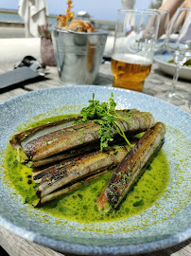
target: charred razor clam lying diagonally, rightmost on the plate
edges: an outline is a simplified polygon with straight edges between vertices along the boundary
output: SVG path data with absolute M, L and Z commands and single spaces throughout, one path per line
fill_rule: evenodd
M 142 168 L 163 144 L 165 125 L 157 122 L 135 144 L 115 169 L 105 190 L 97 199 L 98 210 L 108 212 L 116 208 L 141 173 Z

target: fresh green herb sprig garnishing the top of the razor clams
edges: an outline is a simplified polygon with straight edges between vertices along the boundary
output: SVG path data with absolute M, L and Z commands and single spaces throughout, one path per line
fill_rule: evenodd
M 95 94 L 93 93 L 93 100 L 89 102 L 89 106 L 84 107 L 81 110 L 80 115 L 82 116 L 82 119 L 80 119 L 78 123 L 94 120 L 100 125 L 98 131 L 98 136 L 100 138 L 100 149 L 103 150 L 104 148 L 108 147 L 109 141 L 113 141 L 113 131 L 116 131 L 126 140 L 128 145 L 132 147 L 124 131 L 118 124 L 117 119 L 124 120 L 128 123 L 130 123 L 130 121 L 123 119 L 123 117 L 117 114 L 115 110 L 116 102 L 113 100 L 113 93 L 109 101 L 103 101 L 101 103 L 99 101 L 95 101 Z

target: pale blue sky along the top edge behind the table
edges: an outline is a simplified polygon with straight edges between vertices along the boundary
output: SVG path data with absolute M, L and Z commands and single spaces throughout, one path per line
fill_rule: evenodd
M 41 0 L 40 0 L 41 1 Z M 130 0 L 129 0 L 130 1 Z M 64 14 L 67 0 L 46 0 L 49 14 Z M 135 8 L 147 9 L 151 0 L 136 0 Z M 18 9 L 19 0 L 0 0 L 0 9 Z M 74 12 L 86 10 L 92 19 L 116 21 L 121 0 L 73 0 Z

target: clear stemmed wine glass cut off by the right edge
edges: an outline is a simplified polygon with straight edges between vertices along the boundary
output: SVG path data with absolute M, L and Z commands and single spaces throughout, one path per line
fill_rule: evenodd
M 173 82 L 170 89 L 165 95 L 165 100 L 180 105 L 186 99 L 183 91 L 176 90 L 176 83 L 179 79 L 182 65 L 191 59 L 191 9 L 179 8 L 177 9 L 172 23 L 167 32 L 165 42 L 166 49 L 173 57 L 176 64 Z

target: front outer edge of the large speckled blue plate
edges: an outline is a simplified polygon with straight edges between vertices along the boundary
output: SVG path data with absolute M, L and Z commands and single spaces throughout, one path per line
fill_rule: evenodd
M 4 227 L 4 223 L 8 223 L 9 229 Z M 49 247 L 51 249 L 63 252 L 63 253 L 76 253 L 78 255 L 134 255 L 137 253 L 147 253 L 158 249 L 164 249 L 167 247 L 173 247 L 180 244 L 191 237 L 191 227 L 183 230 L 182 232 L 175 233 L 173 235 L 168 235 L 165 239 L 159 239 L 151 242 L 140 244 L 130 244 L 130 245 L 114 245 L 114 246 L 91 246 L 83 245 L 78 243 L 71 243 L 65 240 L 50 238 L 40 233 L 34 233 L 24 228 L 19 228 L 18 226 L 9 223 L 6 219 L 0 216 L 0 226 L 12 232 L 21 238 L 43 247 Z M 25 232 L 24 232 L 25 231 Z M 180 236 L 182 239 L 180 239 Z M 54 241 L 55 246 L 51 245 Z M 75 246 L 75 247 L 74 247 Z M 149 247 L 149 249 L 148 249 Z M 117 251 L 116 251 L 117 249 Z

